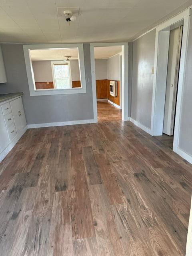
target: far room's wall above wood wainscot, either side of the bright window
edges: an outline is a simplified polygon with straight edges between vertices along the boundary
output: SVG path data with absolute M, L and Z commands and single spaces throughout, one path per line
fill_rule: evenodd
M 52 82 L 51 60 L 32 61 L 35 82 Z M 80 80 L 79 61 L 70 60 L 72 81 Z

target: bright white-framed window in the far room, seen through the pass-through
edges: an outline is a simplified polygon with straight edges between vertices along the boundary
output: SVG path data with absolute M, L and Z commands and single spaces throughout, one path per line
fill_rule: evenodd
M 52 76 L 55 89 L 72 88 L 70 61 L 52 61 Z

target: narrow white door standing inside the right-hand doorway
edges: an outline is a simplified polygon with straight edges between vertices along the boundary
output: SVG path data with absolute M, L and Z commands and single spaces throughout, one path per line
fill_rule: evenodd
M 173 135 L 182 42 L 182 26 L 170 31 L 163 133 Z

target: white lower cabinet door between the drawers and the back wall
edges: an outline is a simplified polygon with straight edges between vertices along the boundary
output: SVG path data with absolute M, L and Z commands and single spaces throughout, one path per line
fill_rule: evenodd
M 26 126 L 22 98 L 10 102 L 17 133 Z

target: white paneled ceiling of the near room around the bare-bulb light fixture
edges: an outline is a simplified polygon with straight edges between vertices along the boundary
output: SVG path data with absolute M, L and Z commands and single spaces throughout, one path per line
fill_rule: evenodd
M 0 42 L 128 41 L 190 5 L 192 0 L 0 0 Z M 58 7 L 79 8 L 77 20 L 68 26 Z

